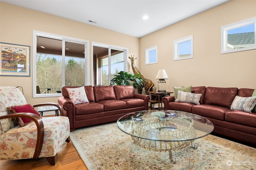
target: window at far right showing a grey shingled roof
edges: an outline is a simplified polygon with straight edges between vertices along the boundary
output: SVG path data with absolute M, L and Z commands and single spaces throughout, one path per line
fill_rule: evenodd
M 221 27 L 221 53 L 256 49 L 256 17 Z

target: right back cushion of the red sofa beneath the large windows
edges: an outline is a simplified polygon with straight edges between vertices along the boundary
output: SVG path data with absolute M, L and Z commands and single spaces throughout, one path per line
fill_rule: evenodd
M 114 90 L 117 100 L 134 98 L 134 87 L 132 85 L 114 86 Z

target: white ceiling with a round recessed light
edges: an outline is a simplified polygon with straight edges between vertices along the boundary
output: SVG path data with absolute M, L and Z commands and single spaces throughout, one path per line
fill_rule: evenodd
M 0 0 L 143 37 L 229 0 Z M 142 19 L 144 15 L 147 20 Z

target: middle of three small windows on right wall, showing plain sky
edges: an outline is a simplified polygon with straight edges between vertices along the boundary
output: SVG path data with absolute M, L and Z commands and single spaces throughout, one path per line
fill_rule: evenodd
M 193 58 L 193 35 L 174 40 L 173 60 Z

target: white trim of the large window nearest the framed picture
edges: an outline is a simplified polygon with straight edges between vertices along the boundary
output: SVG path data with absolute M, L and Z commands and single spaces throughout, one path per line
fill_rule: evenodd
M 54 39 L 60 39 L 63 41 L 69 41 L 69 42 L 74 42 L 74 43 L 81 43 L 84 44 L 86 49 L 85 50 L 85 79 L 84 79 L 84 84 L 85 85 L 89 85 L 89 76 L 90 76 L 90 68 L 89 68 L 89 41 L 88 40 L 83 40 L 83 39 L 76 39 L 76 38 L 72 38 L 72 37 L 65 37 L 62 35 L 56 35 L 56 34 L 51 34 L 51 33 L 46 33 L 46 32 L 41 32 L 41 31 L 33 31 L 33 98 L 43 98 L 43 97 L 59 97 L 62 96 L 61 93 L 53 93 L 53 94 L 36 94 L 36 44 L 37 44 L 37 39 L 36 36 L 41 35 L 44 37 L 50 37 L 50 38 L 54 38 Z M 65 52 L 65 49 L 62 49 L 62 53 L 63 51 Z M 63 62 L 62 62 L 63 63 Z M 64 63 L 65 64 L 65 61 Z M 65 69 L 64 66 L 62 66 L 63 70 Z M 63 71 L 62 71 L 63 72 Z M 64 75 L 63 75 L 64 76 Z M 62 85 L 65 84 L 65 80 L 64 78 L 62 78 Z

